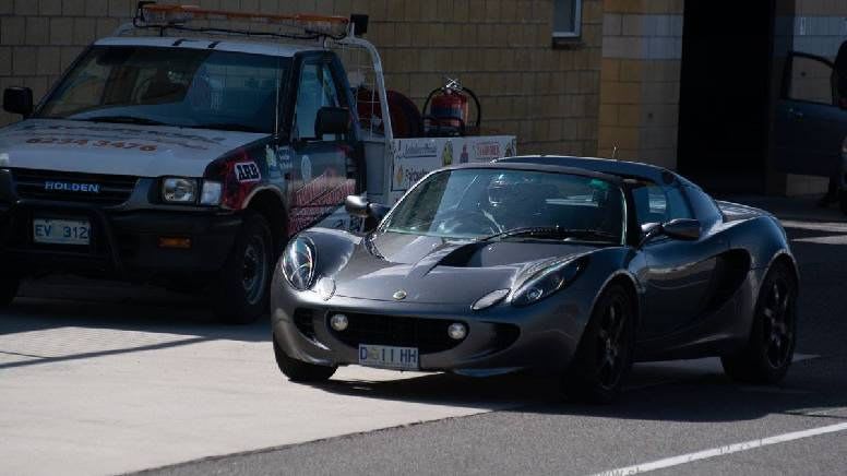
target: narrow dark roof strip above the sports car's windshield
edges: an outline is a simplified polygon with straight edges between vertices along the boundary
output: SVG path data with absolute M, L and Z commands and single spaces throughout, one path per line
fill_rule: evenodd
M 659 185 L 696 186 L 684 177 L 666 168 L 640 162 L 616 160 L 598 157 L 575 157 L 570 155 L 522 155 L 494 160 L 496 164 L 537 164 L 590 170 L 621 178 L 635 178 Z

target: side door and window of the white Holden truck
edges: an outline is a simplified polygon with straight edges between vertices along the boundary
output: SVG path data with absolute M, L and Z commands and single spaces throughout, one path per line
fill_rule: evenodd
M 289 117 L 293 164 L 290 168 L 289 234 L 327 218 L 358 191 L 360 162 L 354 124 L 348 134 L 317 136 L 315 119 L 322 107 L 350 110 L 351 98 L 341 64 L 332 53 L 305 55 L 297 61 L 297 88 Z M 346 214 L 335 214 L 324 226 L 349 226 Z

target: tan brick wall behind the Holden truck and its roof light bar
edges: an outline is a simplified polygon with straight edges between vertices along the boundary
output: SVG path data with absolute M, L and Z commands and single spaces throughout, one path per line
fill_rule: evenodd
M 174 1 L 180 3 L 181 1 Z M 182 1 L 182 3 L 189 3 Z M 207 0 L 261 12 L 368 13 L 390 88 L 418 106 L 442 76 L 482 100 L 484 128 L 516 134 L 524 153 L 594 155 L 603 0 L 585 0 L 583 37 L 551 47 L 550 0 Z M 0 87 L 40 98 L 79 51 L 127 22 L 134 0 L 0 0 Z M 0 124 L 16 120 L 0 112 Z

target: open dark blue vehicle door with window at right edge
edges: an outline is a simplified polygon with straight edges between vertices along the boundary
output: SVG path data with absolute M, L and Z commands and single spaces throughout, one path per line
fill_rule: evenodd
M 836 104 L 836 83 L 832 61 L 803 52 L 789 55 L 776 107 L 778 170 L 822 177 L 839 170 L 847 111 Z

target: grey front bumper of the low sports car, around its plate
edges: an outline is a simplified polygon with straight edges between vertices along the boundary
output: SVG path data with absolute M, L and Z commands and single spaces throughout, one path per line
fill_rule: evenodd
M 324 366 L 357 365 L 358 344 L 370 344 L 418 348 L 423 371 L 470 376 L 521 369 L 561 372 L 576 350 L 589 313 L 589 306 L 569 302 L 566 296 L 524 308 L 501 304 L 481 311 L 470 310 L 469 305 L 341 296 L 324 300 L 315 291 L 293 289 L 278 266 L 272 286 L 276 343 L 291 358 Z M 361 318 L 370 325 L 344 336 L 329 325 L 335 313 L 347 314 L 350 329 Z M 451 343 L 446 330 L 454 322 L 466 324 L 468 332 L 464 340 Z

